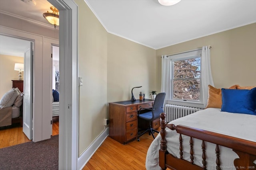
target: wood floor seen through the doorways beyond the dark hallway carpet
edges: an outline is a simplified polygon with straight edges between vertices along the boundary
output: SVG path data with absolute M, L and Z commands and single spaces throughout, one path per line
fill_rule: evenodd
M 58 117 L 53 117 L 52 135 L 59 134 L 59 121 Z M 29 142 L 30 140 L 22 131 L 20 125 L 12 125 L 0 128 L 0 149 L 18 145 L 21 143 Z

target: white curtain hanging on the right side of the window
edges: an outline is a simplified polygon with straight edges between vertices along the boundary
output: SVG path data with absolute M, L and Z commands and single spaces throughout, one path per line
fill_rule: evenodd
M 203 99 L 204 107 L 207 105 L 208 100 L 208 84 L 214 86 L 212 80 L 212 71 L 211 71 L 211 59 L 210 59 L 210 46 L 202 47 L 202 60 L 201 60 L 201 78 L 202 78 L 202 90 L 203 90 Z

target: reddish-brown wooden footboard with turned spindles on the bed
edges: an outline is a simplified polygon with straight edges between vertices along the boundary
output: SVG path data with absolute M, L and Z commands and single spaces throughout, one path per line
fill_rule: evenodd
M 159 166 L 164 170 L 170 168 L 171 170 L 206 170 L 207 169 L 207 158 L 205 154 L 205 141 L 216 144 L 216 170 L 221 169 L 221 160 L 220 160 L 220 146 L 231 148 L 239 158 L 234 160 L 234 166 L 236 169 L 240 170 L 252 170 L 256 169 L 256 164 L 253 163 L 256 160 L 256 142 L 247 141 L 244 139 L 239 139 L 236 137 L 231 137 L 227 135 L 222 135 L 219 133 L 214 133 L 210 131 L 204 131 L 202 129 L 196 129 L 192 127 L 186 127 L 182 125 L 175 126 L 174 124 L 166 124 L 165 121 L 166 114 L 160 114 L 160 150 L 159 150 Z M 166 147 L 166 130 L 165 127 L 168 127 L 171 130 L 176 130 L 180 134 L 180 158 L 176 158 L 169 154 Z M 190 162 L 183 159 L 183 149 L 182 145 L 182 135 L 190 137 Z M 203 167 L 200 167 L 194 164 L 194 152 L 193 152 L 193 138 L 202 140 L 202 164 Z

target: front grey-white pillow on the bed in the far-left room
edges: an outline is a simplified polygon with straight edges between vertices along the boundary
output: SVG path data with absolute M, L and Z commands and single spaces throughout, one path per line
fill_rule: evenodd
M 12 89 L 9 92 L 6 92 L 6 94 L 4 94 L 0 100 L 0 107 L 3 109 L 4 107 L 12 106 L 18 95 L 20 95 L 20 93 L 16 89 Z

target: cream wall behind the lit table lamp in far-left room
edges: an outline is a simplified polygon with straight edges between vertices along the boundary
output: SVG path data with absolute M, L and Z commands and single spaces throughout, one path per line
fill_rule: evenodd
M 0 55 L 0 99 L 12 88 L 12 80 L 18 80 L 19 72 L 14 70 L 15 63 L 24 63 L 24 57 Z

